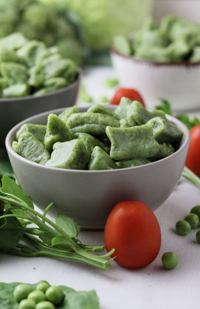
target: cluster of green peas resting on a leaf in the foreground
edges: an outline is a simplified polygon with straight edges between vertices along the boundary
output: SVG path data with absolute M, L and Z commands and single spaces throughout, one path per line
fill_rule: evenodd
M 46 281 L 37 284 L 36 289 L 25 283 L 15 287 L 14 297 L 19 303 L 18 309 L 55 309 L 62 302 L 63 291 L 58 286 L 50 286 Z

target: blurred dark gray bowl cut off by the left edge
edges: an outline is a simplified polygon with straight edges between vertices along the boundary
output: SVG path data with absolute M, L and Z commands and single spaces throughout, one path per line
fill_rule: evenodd
M 76 103 L 80 86 L 81 71 L 77 80 L 57 91 L 40 96 L 0 99 L 0 148 L 5 147 L 9 130 L 20 121 L 50 109 L 72 106 Z

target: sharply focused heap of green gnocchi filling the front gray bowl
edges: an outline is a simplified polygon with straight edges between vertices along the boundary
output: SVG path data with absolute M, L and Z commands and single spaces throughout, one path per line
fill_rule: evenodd
M 49 167 L 112 170 L 147 164 L 173 154 L 182 131 L 163 111 L 148 111 L 123 97 L 115 111 L 101 104 L 80 112 L 74 105 L 46 125 L 24 124 L 16 133 L 16 153 Z

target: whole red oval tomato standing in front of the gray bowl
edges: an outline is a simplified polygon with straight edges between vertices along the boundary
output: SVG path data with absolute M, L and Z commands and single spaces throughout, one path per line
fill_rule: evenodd
M 159 253 L 161 232 L 153 211 L 139 201 L 123 201 L 109 214 L 104 231 L 107 251 L 128 268 L 149 265 Z

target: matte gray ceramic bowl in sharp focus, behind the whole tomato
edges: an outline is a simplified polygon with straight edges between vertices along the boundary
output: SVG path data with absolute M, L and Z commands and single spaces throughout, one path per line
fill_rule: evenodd
M 116 106 L 110 106 L 114 110 Z M 87 107 L 80 108 L 86 111 Z M 54 110 L 59 114 L 63 109 Z M 187 156 L 190 134 L 186 126 L 172 116 L 168 119 L 183 131 L 179 149 L 157 162 L 117 170 L 86 171 L 43 166 L 28 161 L 12 149 L 15 134 L 24 123 L 46 124 L 52 111 L 30 117 L 8 133 L 6 147 L 20 186 L 44 210 L 50 202 L 49 214 L 65 213 L 81 226 L 102 228 L 115 204 L 138 200 L 156 210 L 169 197 L 180 179 Z

